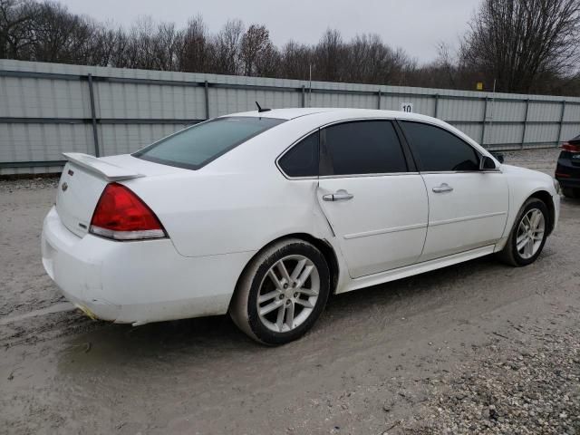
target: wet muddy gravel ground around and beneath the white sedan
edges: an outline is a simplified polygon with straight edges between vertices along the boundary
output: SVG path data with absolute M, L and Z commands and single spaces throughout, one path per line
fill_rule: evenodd
M 557 150 L 506 152 L 553 173 Z M 54 179 L 0 181 L 0 432 L 580 433 L 580 202 L 533 266 L 492 257 L 334 297 L 279 348 L 225 316 L 138 328 L 43 273 Z

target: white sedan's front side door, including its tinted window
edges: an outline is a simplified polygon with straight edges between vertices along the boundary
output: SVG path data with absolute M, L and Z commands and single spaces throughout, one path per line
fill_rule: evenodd
M 479 169 L 478 150 L 438 126 L 400 121 L 429 194 L 429 228 L 420 261 L 495 244 L 507 219 L 507 181 Z

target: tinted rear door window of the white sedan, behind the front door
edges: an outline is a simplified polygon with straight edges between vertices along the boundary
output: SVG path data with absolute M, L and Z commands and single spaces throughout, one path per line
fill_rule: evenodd
M 321 175 L 406 172 L 407 162 L 391 121 L 332 125 L 321 136 Z

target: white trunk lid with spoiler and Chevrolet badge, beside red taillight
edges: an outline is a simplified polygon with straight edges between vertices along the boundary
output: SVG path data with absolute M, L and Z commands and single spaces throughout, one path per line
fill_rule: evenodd
M 64 153 L 68 160 L 56 194 L 56 211 L 64 227 L 83 237 L 89 232 L 94 208 L 107 184 L 125 179 L 167 174 L 174 168 L 139 160 L 131 155 L 96 158 Z

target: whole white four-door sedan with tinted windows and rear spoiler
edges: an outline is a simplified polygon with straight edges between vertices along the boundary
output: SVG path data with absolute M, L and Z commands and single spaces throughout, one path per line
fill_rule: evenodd
M 86 314 L 229 313 L 295 340 L 340 294 L 497 254 L 539 256 L 551 177 L 399 111 L 284 109 L 205 121 L 134 154 L 65 154 L 43 265 Z

